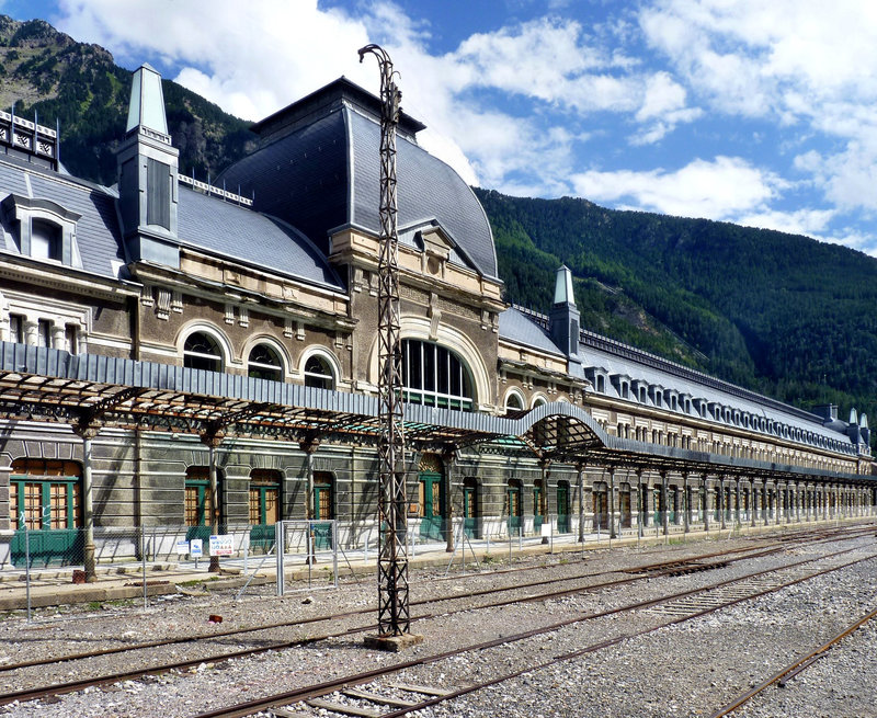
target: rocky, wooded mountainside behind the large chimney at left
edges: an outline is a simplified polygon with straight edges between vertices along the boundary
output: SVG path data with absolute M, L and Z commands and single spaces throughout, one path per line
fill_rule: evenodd
M 0 107 L 61 129 L 61 161 L 103 184 L 116 181 L 113 153 L 125 135 L 129 70 L 99 45 L 77 43 L 42 20 L 0 15 Z M 253 137 L 238 119 L 175 82 L 164 81 L 168 128 L 180 170 L 201 180 L 247 151 Z

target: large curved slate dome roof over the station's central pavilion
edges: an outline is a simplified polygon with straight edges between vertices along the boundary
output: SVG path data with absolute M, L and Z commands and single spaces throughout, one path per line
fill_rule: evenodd
M 218 181 L 253 196 L 253 206 L 301 229 L 326 253 L 328 232 L 380 230 L 378 100 L 341 79 L 254 125 L 263 145 Z M 454 259 L 497 277 L 493 235 L 471 189 L 422 149 L 422 128 L 403 115 L 397 137 L 398 225 L 434 220 L 457 244 Z

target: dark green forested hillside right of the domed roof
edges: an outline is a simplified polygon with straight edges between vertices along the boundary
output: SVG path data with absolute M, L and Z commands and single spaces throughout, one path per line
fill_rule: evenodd
M 477 194 L 510 300 L 546 309 L 563 262 L 579 278 L 584 328 L 800 406 L 834 401 L 874 415 L 874 258 L 583 200 Z M 626 321 L 631 315 L 638 321 Z

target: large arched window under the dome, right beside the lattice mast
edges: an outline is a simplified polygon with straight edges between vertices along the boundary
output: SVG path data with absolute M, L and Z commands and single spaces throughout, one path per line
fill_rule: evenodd
M 402 340 L 402 384 L 406 401 L 411 403 L 472 409 L 469 369 L 444 346 L 413 339 Z

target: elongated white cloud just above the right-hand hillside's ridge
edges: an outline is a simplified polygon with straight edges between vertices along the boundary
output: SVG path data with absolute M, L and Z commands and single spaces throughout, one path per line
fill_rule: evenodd
M 572 183 L 594 202 L 721 220 L 763 208 L 787 186 L 779 176 L 733 157 L 697 159 L 674 172 L 590 170 L 574 174 Z

